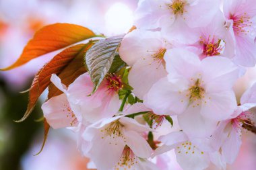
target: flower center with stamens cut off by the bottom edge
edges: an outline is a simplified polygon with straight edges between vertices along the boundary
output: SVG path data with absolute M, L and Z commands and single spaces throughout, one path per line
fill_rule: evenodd
M 119 160 L 119 163 L 115 166 L 115 170 L 121 169 L 131 169 L 133 165 L 137 163 L 136 156 L 129 146 L 125 146 L 123 149 L 122 156 Z

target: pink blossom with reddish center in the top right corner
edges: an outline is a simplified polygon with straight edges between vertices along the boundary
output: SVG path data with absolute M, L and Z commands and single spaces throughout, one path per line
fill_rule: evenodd
M 234 62 L 245 67 L 256 63 L 255 26 L 256 6 L 254 0 L 224 1 L 227 27 L 236 44 Z

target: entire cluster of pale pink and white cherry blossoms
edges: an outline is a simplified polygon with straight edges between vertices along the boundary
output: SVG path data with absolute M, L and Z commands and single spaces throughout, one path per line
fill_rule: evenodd
M 98 170 L 171 169 L 160 155 L 172 149 L 185 170 L 226 169 L 256 106 L 256 84 L 241 99 L 233 90 L 256 64 L 255 16 L 255 0 L 140 1 L 119 46 L 127 67 L 93 94 L 89 73 L 69 87 L 52 75 L 63 93 L 42 105 L 44 117 L 76 132 Z M 154 138 L 172 118 L 179 130 Z

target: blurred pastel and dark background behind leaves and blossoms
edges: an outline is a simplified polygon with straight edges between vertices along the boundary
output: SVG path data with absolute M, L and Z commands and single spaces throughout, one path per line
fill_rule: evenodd
M 138 0 L 0 0 L 0 67 L 7 67 L 22 53 L 34 32 L 47 24 L 71 23 L 86 26 L 106 36 L 127 32 L 133 25 Z M 44 55 L 12 71 L 0 72 L 0 170 L 86 170 L 88 160 L 76 149 L 75 136 L 69 130 L 50 130 L 40 155 L 43 139 L 42 95 L 32 115 L 22 123 L 28 93 L 36 72 L 54 56 Z M 256 69 L 236 85 L 240 95 L 256 79 Z M 254 170 L 256 136 L 245 132 L 243 146 L 232 170 Z M 172 160 L 174 161 L 174 159 Z M 179 167 L 177 167 L 179 169 Z M 214 167 L 212 167 L 214 169 Z

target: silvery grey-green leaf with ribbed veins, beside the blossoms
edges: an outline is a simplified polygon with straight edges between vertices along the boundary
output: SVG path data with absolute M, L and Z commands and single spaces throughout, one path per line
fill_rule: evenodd
M 86 53 L 86 65 L 94 83 L 92 93 L 98 89 L 106 73 L 108 73 L 124 36 L 125 34 L 122 34 L 100 40 Z

